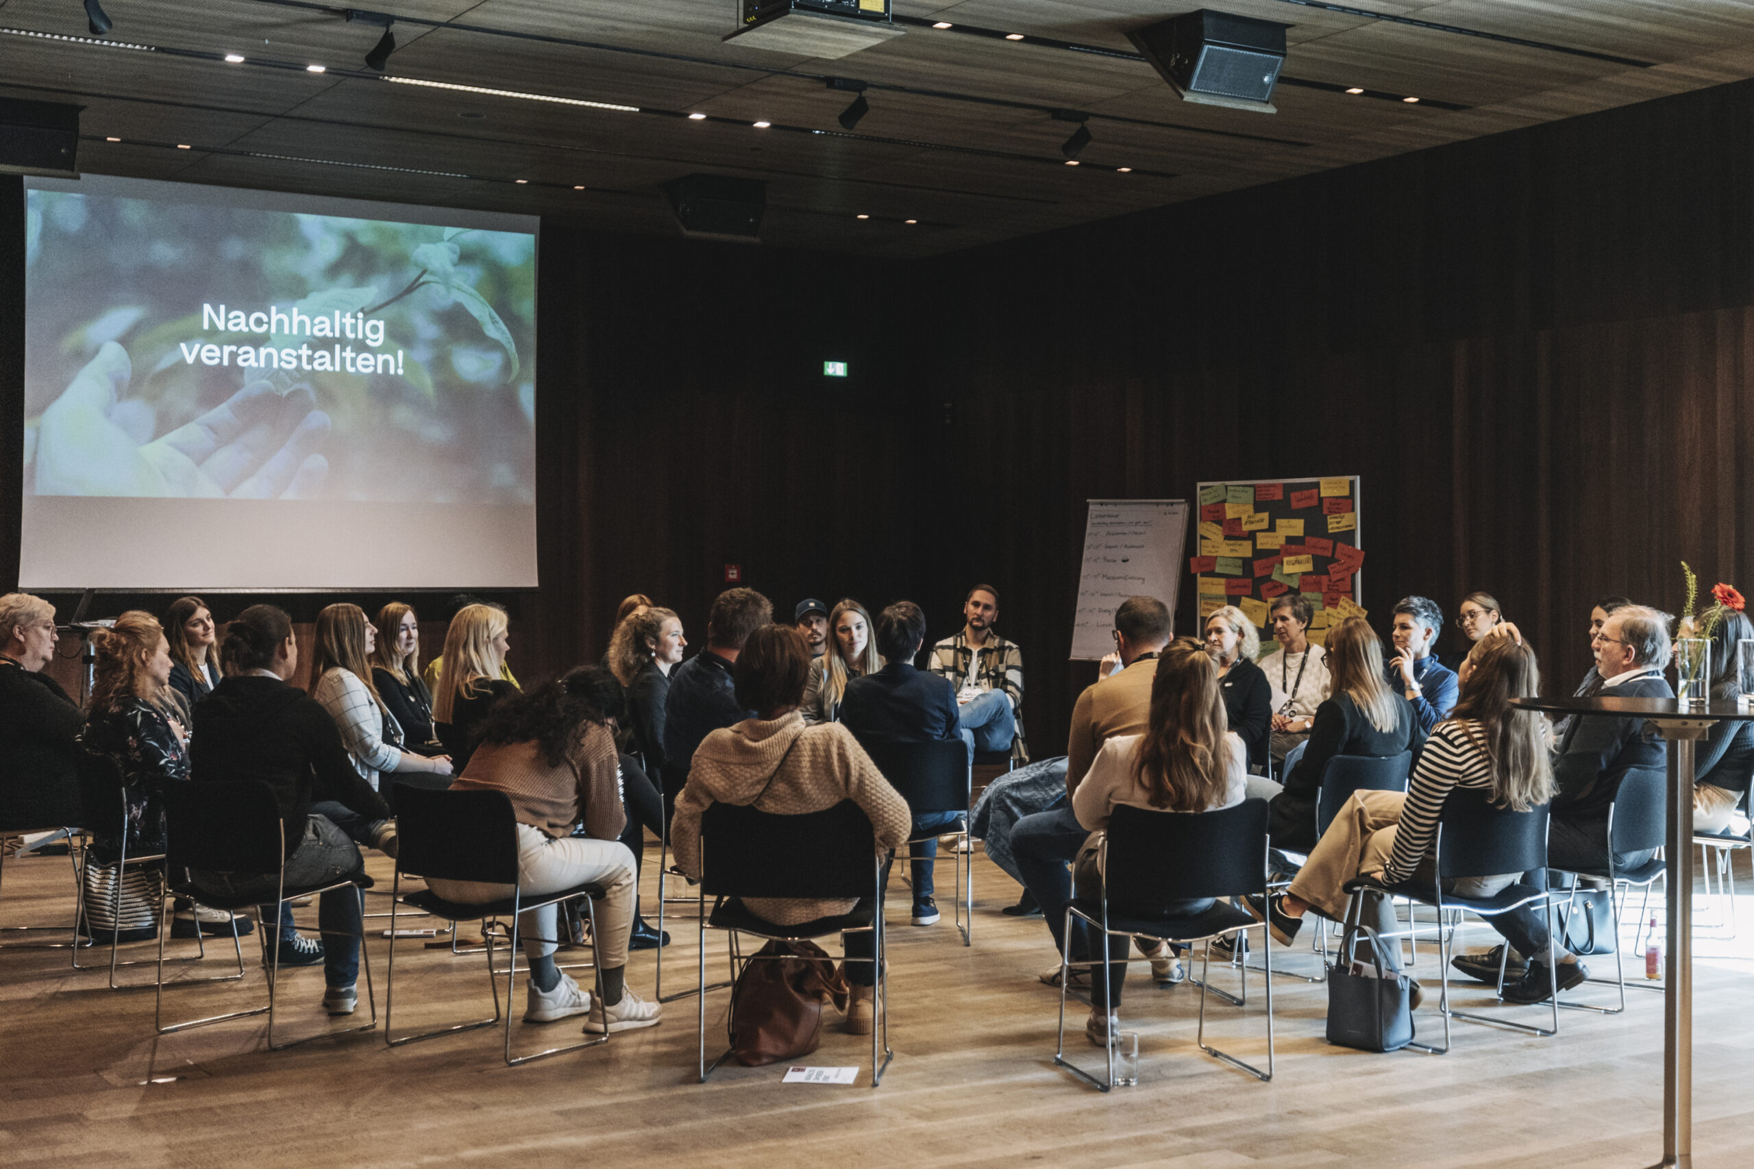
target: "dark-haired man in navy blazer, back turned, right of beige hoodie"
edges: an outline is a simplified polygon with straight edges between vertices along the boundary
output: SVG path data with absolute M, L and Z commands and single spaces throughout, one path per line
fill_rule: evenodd
M 898 600 L 877 618 L 877 653 L 886 665 L 875 674 L 847 681 L 840 700 L 840 723 L 861 742 L 933 742 L 972 735 L 956 721 L 956 690 L 945 679 L 914 669 L 914 656 L 926 642 L 926 614 L 912 600 Z M 917 813 L 914 836 L 931 836 L 956 823 L 961 813 Z M 938 841 L 909 846 L 914 871 L 914 925 L 938 920 L 931 869 Z

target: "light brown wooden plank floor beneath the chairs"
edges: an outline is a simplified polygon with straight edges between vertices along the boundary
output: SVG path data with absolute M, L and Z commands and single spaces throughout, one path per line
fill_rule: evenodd
M 374 855 L 372 871 L 388 885 L 384 858 Z M 949 865 L 942 874 L 940 890 Z M 1742 879 L 1754 890 L 1745 864 Z M 70 888 L 67 858 L 9 862 L 0 922 L 54 920 L 68 913 Z M 700 1085 L 691 1000 L 667 1008 L 654 1030 L 516 1069 L 500 1062 L 500 1034 L 491 1030 L 396 1050 L 377 1030 L 270 1053 L 260 1020 L 167 1036 L 154 1057 L 151 990 L 111 992 L 105 974 L 68 971 L 65 950 L 5 951 L 0 1164 L 844 1169 L 1040 1160 L 1080 1169 L 1551 1169 L 1658 1160 L 1663 1030 L 1656 993 L 1631 992 L 1622 1016 L 1566 1011 L 1556 1039 L 1458 1023 L 1451 1055 L 1365 1055 L 1323 1041 L 1323 986 L 1275 979 L 1279 1074 L 1258 1083 L 1194 1046 L 1194 988 L 1156 990 L 1140 979 L 1123 1008 L 1124 1027 L 1142 1036 L 1140 1083 L 1103 1095 L 1051 1062 L 1058 993 L 1035 981 L 1052 960 L 1044 927 L 1000 916 L 1017 890 L 986 858 L 977 860 L 975 888 L 975 944 L 966 950 L 947 914 L 935 927 L 912 929 L 902 906 L 891 907 L 896 1055 L 877 1090 L 870 1088 L 868 1043 L 838 1032 L 805 1062 L 865 1064 L 856 1087 L 782 1085 L 782 1067 L 726 1067 Z M 1696 1164 L 1740 1167 L 1754 1164 L 1754 906 L 1742 906 L 1742 941 L 1714 937 L 1724 930 L 1708 930 L 1703 916 L 1696 930 Z M 695 934 L 689 925 L 675 927 L 670 969 L 689 979 Z M 398 1029 L 486 1013 L 481 957 L 414 946 L 396 948 Z M 719 946 L 710 953 L 721 953 Z M 1431 953 L 1421 946 L 1428 986 Z M 1314 971 L 1307 946 L 1277 955 Z M 1612 972 L 1612 958 L 1594 965 Z M 382 943 L 372 946 L 372 969 L 382 1013 Z M 651 990 L 649 951 L 635 955 L 630 978 Z M 1209 1011 L 1209 1034 L 1245 1058 L 1265 1055 L 1258 988 L 1256 976 L 1247 1011 L 1217 1000 Z M 281 992 L 284 1027 L 328 1025 L 317 1009 L 321 971 L 288 974 Z M 1587 988 L 1598 1002 L 1612 993 Z M 256 995 L 265 986 L 260 971 L 251 971 L 242 985 L 181 990 L 172 1009 L 210 1013 Z M 1484 999 L 1473 988 L 1463 995 Z M 1435 1002 L 1435 988 L 1430 997 Z M 726 992 L 709 999 L 709 1044 L 723 1044 L 726 999 Z M 1528 1008 L 1489 1009 L 1544 1018 Z M 1430 1004 L 1419 1027 L 1421 1037 L 1440 1030 Z M 556 1043 L 575 1029 L 519 1023 L 514 1032 L 528 1044 Z M 1091 1065 L 1100 1057 L 1077 1032 L 1068 1050 Z M 182 1078 L 144 1085 L 154 1058 L 158 1074 Z

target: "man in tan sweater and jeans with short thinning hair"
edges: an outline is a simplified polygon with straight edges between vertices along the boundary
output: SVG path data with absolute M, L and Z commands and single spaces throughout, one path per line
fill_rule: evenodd
M 1014 827 L 1035 813 L 1063 809 L 1096 751 L 1112 735 L 1137 735 L 1151 706 L 1151 679 L 1158 651 L 1170 641 L 1170 611 L 1156 597 L 1128 597 L 1114 614 L 1116 653 L 1103 658 L 1098 685 L 1072 707 L 1066 755 L 1028 764 L 988 785 L 975 804 L 972 830 L 986 841 L 988 858 L 1024 885 L 1012 857 Z M 1137 669 L 1135 669 L 1137 667 Z M 1070 828 L 1068 828 L 1070 830 Z M 1035 916 L 1040 906 L 1024 886 L 1023 899 L 1007 906 L 1010 916 Z

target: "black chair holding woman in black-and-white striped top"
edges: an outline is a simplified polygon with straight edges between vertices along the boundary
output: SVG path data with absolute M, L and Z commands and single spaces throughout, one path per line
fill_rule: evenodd
M 1456 927 L 1461 925 L 1463 913 L 1473 913 L 1482 918 L 1491 918 L 1500 913 L 1508 913 L 1521 906 L 1538 904 L 1547 909 L 1547 969 L 1554 971 L 1554 981 L 1558 983 L 1558 969 L 1554 967 L 1554 900 L 1563 899 L 1561 893 L 1551 893 L 1545 888 L 1517 881 L 1507 885 L 1498 893 L 1491 897 L 1461 897 L 1456 893 L 1444 892 L 1444 881 L 1498 876 L 1501 872 L 1537 872 L 1545 874 L 1547 869 L 1547 806 L 1531 807 L 1529 811 L 1512 811 L 1508 807 L 1493 807 L 1491 797 L 1480 788 L 1454 788 L 1444 800 L 1444 811 L 1438 814 L 1437 821 L 1437 881 L 1403 881 L 1400 885 L 1379 885 L 1366 878 L 1356 878 L 1345 883 L 1345 892 L 1352 895 L 1352 904 L 1347 909 L 1347 918 L 1356 922 L 1361 914 L 1361 897 L 1366 890 L 1375 890 L 1387 893 L 1391 897 L 1407 897 L 1414 902 L 1433 906 L 1438 916 L 1438 972 L 1442 976 L 1442 997 L 1438 999 L 1438 1013 L 1444 1016 L 1444 1046 L 1435 1048 L 1426 1043 L 1410 1043 L 1407 1046 L 1419 1048 L 1421 1051 L 1430 1051 L 1431 1055 L 1445 1055 L 1449 1051 L 1451 1041 L 1451 1018 L 1468 1020 L 1470 1023 L 1487 1023 L 1491 1027 L 1510 1027 L 1514 1030 L 1526 1030 L 1531 1036 L 1556 1036 L 1559 1034 L 1559 995 L 1552 995 L 1552 1027 L 1533 1027 L 1529 1023 L 1517 1023 L 1508 1018 L 1491 1016 L 1491 1015 L 1470 1015 L 1465 1011 L 1452 1011 L 1449 1008 L 1449 958 L 1451 950 L 1456 941 Z M 1545 881 L 1544 881 L 1545 885 Z M 1445 929 L 1447 925 L 1447 929 Z M 1365 927 L 1368 929 L 1368 927 Z M 1407 932 L 1412 932 L 1408 927 Z M 1403 932 L 1384 934 L 1384 937 L 1401 937 Z

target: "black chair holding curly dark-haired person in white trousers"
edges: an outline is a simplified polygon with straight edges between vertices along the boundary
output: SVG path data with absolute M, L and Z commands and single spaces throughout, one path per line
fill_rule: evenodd
M 517 816 L 512 811 L 512 800 L 503 792 L 438 792 L 433 788 L 416 788 L 409 785 L 396 786 L 400 788 L 396 792 L 396 879 L 389 899 L 389 974 L 384 979 L 384 1043 L 395 1048 L 403 1043 L 431 1039 L 433 1036 L 449 1036 L 458 1030 L 493 1027 L 500 1022 L 502 1015 L 498 972 L 493 969 L 495 930 L 482 929 L 481 934 L 488 939 L 488 985 L 493 988 L 493 1018 L 482 1018 L 472 1023 L 454 1023 L 451 1027 L 437 1027 L 414 1036 L 396 1037 L 393 1034 L 391 1018 L 396 1000 L 395 914 L 400 911 L 400 906 L 412 906 L 423 913 L 451 922 L 510 918 L 512 950 L 510 960 L 505 964 L 503 1011 L 505 1064 L 509 1067 L 517 1067 L 519 1064 L 540 1060 L 549 1055 L 560 1055 L 561 1051 L 577 1051 L 579 1048 L 595 1048 L 600 1043 L 609 1043 L 609 1036 L 603 1034 L 582 1043 L 568 1043 L 558 1048 L 537 1051 L 533 1055 L 512 1057 L 512 1008 L 516 1004 L 514 983 L 517 978 L 517 914 L 524 909 L 540 909 L 542 906 L 572 900 L 574 897 L 584 897 L 586 913 L 589 913 L 591 918 L 591 948 L 595 958 L 595 948 L 598 943 L 596 902 L 603 897 L 603 886 L 575 885 L 574 888 L 561 890 L 558 893 L 531 895 L 526 900 L 523 883 L 517 876 Z M 403 874 L 421 876 L 428 881 L 431 878 L 440 878 L 446 881 L 486 881 L 489 885 L 505 885 L 510 886 L 512 895 L 484 904 L 446 900 L 430 888 L 403 895 Z M 596 995 L 598 1002 L 602 1002 L 603 971 L 600 962 L 593 962 L 593 965 L 596 967 Z

